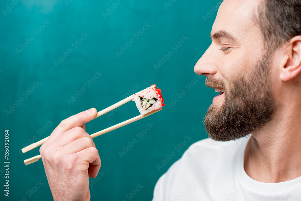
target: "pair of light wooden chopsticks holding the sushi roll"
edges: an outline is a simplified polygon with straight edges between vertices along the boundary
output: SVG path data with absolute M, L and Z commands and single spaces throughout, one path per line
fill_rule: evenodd
M 150 86 L 150 87 L 148 87 L 148 88 L 146 88 L 146 89 L 144 89 L 144 90 L 141 90 L 140 92 L 137 92 L 137 93 L 141 93 L 142 91 L 145 91 L 145 90 L 150 89 L 150 88 L 153 88 L 153 87 L 154 87 L 154 85 L 152 85 L 152 86 Z M 137 93 L 136 93 L 136 94 L 137 94 Z M 101 115 L 104 115 L 104 114 L 106 114 L 107 112 L 109 112 L 109 111 L 111 111 L 111 110 L 113 110 L 113 109 L 115 109 L 115 108 L 118 108 L 120 105 L 123 105 L 123 104 L 129 102 L 130 100 L 133 99 L 133 96 L 134 96 L 134 94 L 131 95 L 131 96 L 129 96 L 129 97 L 127 97 L 127 98 L 125 98 L 125 99 L 123 99 L 123 100 L 121 100 L 121 101 L 119 101 L 119 102 L 117 102 L 117 103 L 115 103 L 114 105 L 111 105 L 111 106 L 108 107 L 108 108 L 105 108 L 105 109 L 99 111 L 99 112 L 96 114 L 95 118 L 100 117 Z M 138 115 L 138 116 L 136 116 L 136 117 L 134 117 L 134 118 L 131 118 L 131 119 L 126 120 L 126 121 L 123 121 L 123 122 L 121 122 L 121 123 L 119 123 L 119 124 L 116 124 L 116 125 L 114 125 L 114 126 L 111 126 L 111 127 L 109 127 L 109 128 L 106 128 L 106 129 L 104 129 L 104 130 L 98 131 L 98 132 L 96 132 L 96 133 L 93 133 L 93 134 L 91 134 L 90 136 L 91 136 L 92 138 L 97 137 L 97 136 L 100 136 L 100 135 L 102 135 L 102 134 L 104 134 L 104 133 L 110 132 L 110 131 L 112 131 L 112 130 L 115 130 L 115 129 L 117 129 L 117 128 L 120 128 L 120 127 L 123 127 L 123 126 L 125 126 L 125 125 L 127 125 L 127 124 L 130 124 L 130 123 L 132 123 L 132 122 L 134 122 L 134 121 L 137 121 L 137 120 L 139 120 L 139 119 L 142 119 L 142 118 L 144 118 L 144 117 L 147 117 L 147 116 L 149 116 L 149 115 L 152 115 L 152 114 L 154 114 L 155 112 L 157 112 L 157 111 L 159 111 L 159 110 L 161 110 L 161 109 L 162 109 L 162 108 L 159 108 L 159 109 L 154 110 L 154 111 L 151 111 L 151 112 L 149 112 L 149 113 L 147 113 L 147 114 L 145 114 L 145 115 Z M 95 118 L 94 118 L 94 119 L 95 119 Z M 46 138 L 44 138 L 44 139 L 42 139 L 42 140 L 40 140 L 40 141 L 38 141 L 38 142 L 36 142 L 36 143 L 33 143 L 33 144 L 29 145 L 29 146 L 24 147 L 24 148 L 21 149 L 21 150 L 22 150 L 23 153 L 26 153 L 26 152 L 28 152 L 28 151 L 30 151 L 30 150 L 32 150 L 32 149 L 34 149 L 34 148 L 36 148 L 36 147 L 42 145 L 44 142 L 46 142 L 46 140 L 47 140 L 48 138 L 49 138 L 49 136 L 46 137 Z M 38 161 L 39 159 L 41 159 L 41 155 L 37 155 L 37 156 L 34 156 L 34 157 L 30 158 L 30 159 L 26 159 L 26 160 L 24 160 L 24 163 L 25 163 L 25 165 L 28 165 L 28 164 L 30 164 L 30 163 L 33 163 L 33 162 Z

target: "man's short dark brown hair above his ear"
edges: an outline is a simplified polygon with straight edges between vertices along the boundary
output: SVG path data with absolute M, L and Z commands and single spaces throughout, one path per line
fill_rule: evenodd
M 257 11 L 254 20 L 268 52 L 301 35 L 301 0 L 262 0 Z

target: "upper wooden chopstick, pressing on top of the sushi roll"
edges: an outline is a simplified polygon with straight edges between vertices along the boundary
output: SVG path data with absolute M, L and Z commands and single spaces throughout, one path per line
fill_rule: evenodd
M 139 92 L 137 92 L 137 93 L 141 93 L 142 91 L 145 91 L 145 90 L 147 90 L 147 89 L 151 89 L 151 88 L 153 88 L 153 87 L 155 87 L 155 86 L 152 85 L 152 86 L 147 87 L 146 89 L 141 90 L 141 91 L 139 91 Z M 136 93 L 136 94 L 137 94 L 137 93 Z M 115 109 L 115 108 L 118 108 L 119 106 L 121 106 L 121 105 L 123 105 L 123 104 L 125 104 L 125 103 L 127 103 L 127 102 L 129 102 L 129 101 L 131 101 L 131 100 L 133 99 L 133 96 L 134 96 L 134 94 L 131 95 L 131 96 L 129 96 L 129 97 L 127 97 L 127 98 L 125 98 L 125 99 L 123 99 L 123 100 L 121 100 L 121 101 L 119 101 L 119 102 L 117 102 L 117 103 L 115 103 L 114 105 L 111 105 L 110 107 L 107 107 L 107 108 L 105 108 L 105 109 L 103 109 L 103 110 L 97 112 L 95 118 L 98 118 L 98 117 L 100 117 L 101 115 L 104 115 L 104 114 L 106 114 L 107 112 L 109 112 L 109 111 L 111 111 L 111 110 L 113 110 L 113 109 Z M 94 118 L 94 119 L 95 119 L 95 118 Z M 32 143 L 31 145 L 28 145 L 28 146 L 24 147 L 24 148 L 21 149 L 21 150 L 22 150 L 23 153 L 26 153 L 26 152 L 28 152 L 28 151 L 30 151 L 30 150 L 32 150 L 32 149 L 34 149 L 34 148 L 36 148 L 36 147 L 42 145 L 44 142 L 46 142 L 46 140 L 47 140 L 48 138 L 49 138 L 49 136 L 48 136 L 48 137 L 45 137 L 44 139 L 42 139 L 42 140 L 40 140 L 40 141 L 38 141 L 38 142 L 35 142 L 35 143 Z

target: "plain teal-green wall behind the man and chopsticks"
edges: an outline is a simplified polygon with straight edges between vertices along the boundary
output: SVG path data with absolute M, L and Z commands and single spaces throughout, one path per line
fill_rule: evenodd
M 8 13 L 3 10 L 7 10 L 12 1 L 0 3 L 0 155 L 3 156 L 0 199 L 52 200 L 42 160 L 23 164 L 24 159 L 39 155 L 39 148 L 24 154 L 20 149 L 26 143 L 49 136 L 60 121 L 71 115 L 92 107 L 100 111 L 122 100 L 127 93 L 132 94 L 133 88 L 143 90 L 155 83 L 165 99 L 162 111 L 94 139 L 104 176 L 97 182 L 93 180 L 95 184 L 90 186 L 91 200 L 129 200 L 127 194 L 135 190 L 136 184 L 144 187 L 131 200 L 151 200 L 159 177 L 192 143 L 207 137 L 203 117 L 216 94 L 205 87 L 206 77 L 193 81 L 196 77 L 193 68 L 211 43 L 209 33 L 216 16 L 213 8 L 219 1 L 177 0 L 166 7 L 167 0 L 121 0 L 106 19 L 102 13 L 110 9 L 115 0 L 73 0 L 68 4 L 55 0 L 16 2 Z M 206 15 L 208 18 L 203 17 Z M 50 23 L 36 36 L 35 30 L 44 20 Z M 151 26 L 135 38 L 133 34 L 142 29 L 144 23 Z M 88 36 L 75 49 L 72 43 L 80 39 L 82 33 Z M 22 52 L 17 52 L 20 44 L 31 36 L 34 40 Z M 189 39 L 174 52 L 172 46 L 181 41 L 182 36 Z M 130 39 L 135 42 L 118 58 L 116 51 Z M 56 67 L 54 61 L 69 48 L 73 52 Z M 154 64 L 169 51 L 172 56 L 156 69 Z M 101 76 L 92 79 L 95 82 L 89 86 L 87 82 L 95 72 Z M 39 86 L 27 96 L 26 90 L 30 90 L 35 81 Z M 189 87 L 189 83 L 194 84 L 193 87 Z M 68 104 L 82 87 L 85 92 Z M 182 90 L 185 95 L 176 98 Z M 5 111 L 20 97 L 24 101 L 7 114 Z M 134 102 L 128 102 L 109 114 L 87 123 L 86 131 L 95 133 L 135 117 L 139 111 Z M 45 127 L 47 121 L 53 122 L 48 128 Z M 139 139 L 136 134 L 143 131 L 147 123 L 154 126 Z M 47 130 L 37 133 L 43 127 Z M 3 191 L 4 130 L 7 129 L 11 162 L 9 198 Z M 175 151 L 185 136 L 192 139 Z M 138 143 L 120 157 L 119 152 L 134 139 Z M 159 170 L 157 164 L 172 151 L 176 155 Z M 29 193 L 40 181 L 42 186 L 34 194 Z

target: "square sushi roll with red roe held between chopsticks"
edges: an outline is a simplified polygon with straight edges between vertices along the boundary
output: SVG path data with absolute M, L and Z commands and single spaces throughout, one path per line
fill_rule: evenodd
M 145 115 L 165 105 L 163 104 L 164 100 L 161 95 L 161 90 L 159 88 L 156 89 L 155 84 L 147 88 L 147 90 L 134 94 L 133 101 L 135 101 L 141 115 Z

